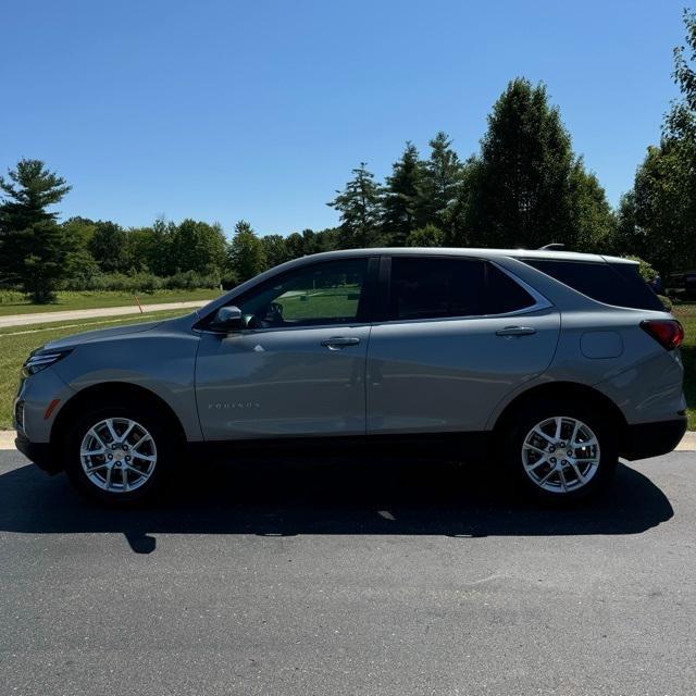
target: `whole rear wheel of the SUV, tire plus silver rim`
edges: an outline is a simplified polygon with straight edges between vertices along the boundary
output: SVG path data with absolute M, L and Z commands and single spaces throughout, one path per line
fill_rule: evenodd
M 527 403 L 513 414 L 504 442 L 504 464 L 515 490 L 554 505 L 596 495 L 611 483 L 619 461 L 614 420 L 582 402 Z

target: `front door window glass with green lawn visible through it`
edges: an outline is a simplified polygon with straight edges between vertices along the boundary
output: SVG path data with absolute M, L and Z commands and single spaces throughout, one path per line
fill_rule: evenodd
M 362 321 L 368 259 L 316 263 L 271 279 L 235 300 L 248 328 Z

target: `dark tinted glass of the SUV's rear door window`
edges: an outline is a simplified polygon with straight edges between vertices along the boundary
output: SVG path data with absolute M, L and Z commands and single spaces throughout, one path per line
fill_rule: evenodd
M 502 314 L 534 298 L 496 266 L 477 259 L 391 259 L 390 320 Z

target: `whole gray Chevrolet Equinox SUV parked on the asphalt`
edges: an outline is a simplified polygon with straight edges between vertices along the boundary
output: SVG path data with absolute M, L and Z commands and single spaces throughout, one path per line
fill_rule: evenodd
M 35 350 L 16 445 L 122 504 L 151 494 L 186 450 L 318 443 L 324 456 L 484 459 L 521 492 L 566 501 L 606 484 L 620 456 L 679 443 L 682 339 L 625 259 L 321 253 L 190 315 Z

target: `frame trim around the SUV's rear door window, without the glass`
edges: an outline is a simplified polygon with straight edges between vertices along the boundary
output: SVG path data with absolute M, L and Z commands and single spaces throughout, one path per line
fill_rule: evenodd
M 505 273 L 513 283 L 517 283 L 522 289 L 526 290 L 526 293 L 534 300 L 533 304 L 529 307 L 523 307 L 522 309 L 515 309 L 510 312 L 499 312 L 496 314 L 461 314 L 456 316 L 430 316 L 423 319 L 389 319 L 389 300 L 391 299 L 391 260 L 398 259 L 461 259 L 465 261 L 478 261 L 481 263 L 489 263 L 495 266 L 498 271 Z M 375 323 L 381 324 L 413 324 L 413 323 L 423 323 L 423 322 L 451 322 L 451 321 L 461 321 L 464 319 L 497 319 L 505 316 L 518 316 L 522 314 L 530 314 L 532 312 L 537 312 L 544 309 L 550 309 L 554 307 L 554 303 L 544 295 L 542 295 L 537 289 L 533 288 L 529 283 L 523 281 L 521 277 L 509 271 L 505 266 L 496 263 L 492 259 L 486 259 L 485 257 L 464 257 L 459 254 L 447 254 L 447 253 L 433 253 L 433 254 L 423 254 L 423 256 L 389 256 L 382 257 L 380 263 L 380 290 L 383 301 L 380 302 L 380 313 L 378 319 L 375 319 Z

